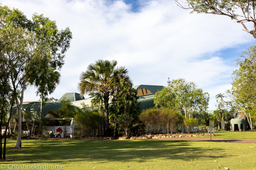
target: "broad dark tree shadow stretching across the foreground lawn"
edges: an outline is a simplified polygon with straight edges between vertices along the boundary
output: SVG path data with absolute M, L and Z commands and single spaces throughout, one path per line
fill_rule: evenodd
M 14 144 L 13 144 L 14 145 Z M 220 148 L 195 147 L 191 141 L 143 140 L 38 140 L 23 141 L 23 150 L 10 150 L 8 159 L 23 163 L 66 163 L 68 161 L 136 161 L 150 159 L 197 160 L 205 153 L 226 157 Z M 214 158 L 216 156 L 213 156 Z

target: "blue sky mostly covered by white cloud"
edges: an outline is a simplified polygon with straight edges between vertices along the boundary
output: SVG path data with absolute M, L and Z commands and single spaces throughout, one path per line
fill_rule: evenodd
M 167 85 L 184 78 L 215 95 L 232 87 L 235 59 L 256 40 L 229 17 L 189 14 L 174 0 L 0 0 L 29 18 L 44 14 L 58 29 L 73 33 L 61 69 L 61 82 L 49 97 L 79 93 L 81 72 L 98 59 L 125 66 L 134 85 Z M 248 25 L 249 28 L 252 26 Z M 24 102 L 38 100 L 29 86 Z M 88 96 L 85 96 L 87 98 Z

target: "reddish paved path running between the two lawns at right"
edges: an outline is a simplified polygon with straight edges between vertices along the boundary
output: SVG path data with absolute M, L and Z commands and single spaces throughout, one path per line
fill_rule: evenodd
M 157 138 L 146 140 L 164 140 L 164 141 L 204 141 L 210 142 L 210 138 Z M 253 143 L 256 144 L 256 139 L 212 139 L 212 142 L 232 142 L 232 143 Z

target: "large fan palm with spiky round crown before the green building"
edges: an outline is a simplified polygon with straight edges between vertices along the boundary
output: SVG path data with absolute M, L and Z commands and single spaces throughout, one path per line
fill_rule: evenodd
M 117 61 L 115 60 L 97 60 L 95 63 L 88 65 L 87 71 L 81 73 L 78 84 L 81 96 L 91 92 L 102 94 L 105 105 L 105 134 L 107 136 L 109 135 L 109 98 L 118 87 L 123 86 L 124 83 L 131 83 L 128 70 L 125 67 L 117 67 L 116 65 Z

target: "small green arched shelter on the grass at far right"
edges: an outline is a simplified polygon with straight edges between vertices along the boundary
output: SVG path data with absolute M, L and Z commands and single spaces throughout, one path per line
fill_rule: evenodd
M 245 113 L 236 113 L 235 118 L 230 120 L 232 131 L 247 130 L 247 120 Z

